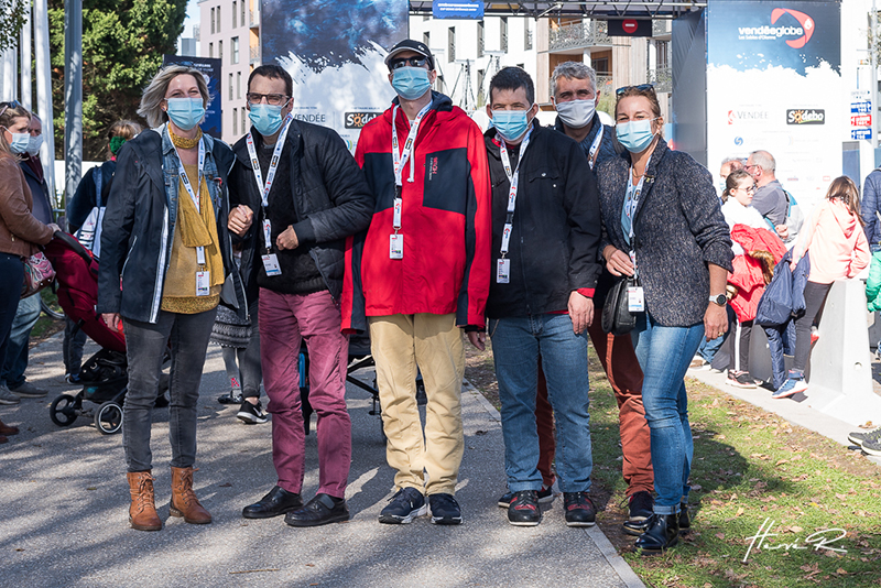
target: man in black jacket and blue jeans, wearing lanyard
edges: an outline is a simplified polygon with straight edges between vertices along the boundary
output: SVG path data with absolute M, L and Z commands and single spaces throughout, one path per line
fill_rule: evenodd
M 588 427 L 587 339 L 600 266 L 596 181 L 572 139 L 533 120 L 534 86 L 519 67 L 490 83 L 485 135 L 492 182 L 492 251 L 487 317 L 502 404 L 508 508 L 513 525 L 537 525 L 537 362 L 547 378 L 561 451 L 556 464 L 566 524 L 590 526 L 592 458 Z M 483 334 L 469 334 L 482 347 Z

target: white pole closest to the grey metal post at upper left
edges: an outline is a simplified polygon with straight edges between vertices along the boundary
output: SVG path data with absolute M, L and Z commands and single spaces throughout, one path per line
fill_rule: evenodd
M 55 200 L 55 123 L 52 112 L 52 64 L 48 55 L 48 6 L 47 0 L 34 0 L 34 55 L 36 57 L 36 111 L 43 120 L 43 146 L 40 161 Z M 64 200 L 59 203 L 64 208 Z

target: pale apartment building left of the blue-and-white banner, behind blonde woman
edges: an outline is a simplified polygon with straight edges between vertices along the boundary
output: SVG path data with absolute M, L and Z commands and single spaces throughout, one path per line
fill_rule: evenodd
M 222 139 L 248 132 L 248 76 L 260 64 L 260 0 L 199 0 L 199 55 L 221 59 Z

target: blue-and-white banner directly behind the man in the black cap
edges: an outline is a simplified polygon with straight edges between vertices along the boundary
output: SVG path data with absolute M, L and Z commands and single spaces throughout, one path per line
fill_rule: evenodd
M 294 117 L 336 130 L 350 151 L 394 98 L 384 64 L 407 36 L 407 0 L 263 0 L 263 63 L 294 79 Z

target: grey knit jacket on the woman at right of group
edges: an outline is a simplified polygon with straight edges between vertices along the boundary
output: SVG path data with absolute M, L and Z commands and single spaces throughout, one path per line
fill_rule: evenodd
M 610 243 L 630 250 L 621 228 L 628 155 L 607 160 L 597 170 L 605 228 L 600 252 Z M 690 155 L 671 151 L 659 139 L 635 218 L 637 266 L 652 319 L 665 327 L 701 323 L 710 294 L 707 264 L 731 271 L 733 257 L 713 175 Z

